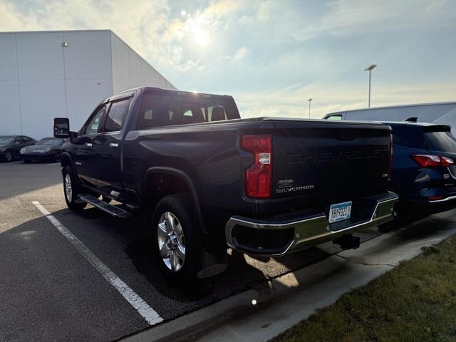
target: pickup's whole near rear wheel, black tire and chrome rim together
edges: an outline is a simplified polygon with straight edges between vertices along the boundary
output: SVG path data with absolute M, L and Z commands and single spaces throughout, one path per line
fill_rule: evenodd
M 151 226 L 153 248 L 162 273 L 177 286 L 195 281 L 202 247 L 190 198 L 163 197 L 155 207 Z

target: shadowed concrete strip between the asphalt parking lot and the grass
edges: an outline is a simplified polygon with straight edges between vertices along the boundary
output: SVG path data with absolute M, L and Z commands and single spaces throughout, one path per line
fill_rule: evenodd
M 452 234 L 454 212 L 436 215 L 125 341 L 268 341 Z

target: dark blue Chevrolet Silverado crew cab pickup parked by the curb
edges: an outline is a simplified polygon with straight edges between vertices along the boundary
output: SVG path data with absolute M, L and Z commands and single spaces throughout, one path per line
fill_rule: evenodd
M 391 129 L 379 123 L 241 119 L 228 95 L 135 88 L 103 100 L 77 133 L 55 118 L 54 135 L 70 138 L 68 207 L 150 213 L 150 248 L 177 284 L 224 271 L 228 248 L 356 248 L 351 233 L 388 222 L 398 200 Z

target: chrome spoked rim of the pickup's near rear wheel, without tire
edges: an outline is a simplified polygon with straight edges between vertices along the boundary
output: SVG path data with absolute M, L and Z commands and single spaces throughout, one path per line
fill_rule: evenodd
M 179 271 L 185 261 L 185 237 L 179 220 L 172 212 L 165 212 L 160 217 L 157 238 L 163 263 L 171 271 Z

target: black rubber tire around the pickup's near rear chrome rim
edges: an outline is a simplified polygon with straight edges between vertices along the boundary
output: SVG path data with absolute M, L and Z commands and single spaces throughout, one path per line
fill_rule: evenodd
M 177 219 L 177 221 L 173 222 L 180 223 L 180 227 L 182 227 L 185 242 L 185 259 L 179 269 L 167 265 L 167 261 L 165 261 L 165 258 L 163 258 L 160 254 L 160 239 L 158 237 L 160 229 L 159 223 L 167 212 L 172 213 Z M 199 271 L 199 265 L 202 257 L 202 247 L 201 239 L 199 237 L 197 227 L 195 227 L 195 219 L 192 212 L 192 202 L 188 195 L 169 195 L 160 199 L 160 202 L 158 202 L 155 207 L 154 214 L 152 215 L 152 219 L 150 221 L 150 234 L 152 237 L 152 248 L 154 249 L 155 257 L 158 260 L 162 274 L 165 275 L 173 286 L 185 286 L 185 284 L 191 284 L 197 279 L 197 271 Z M 162 237 L 163 236 L 164 234 Z M 177 237 L 176 240 L 178 239 L 179 237 Z M 172 239 L 169 241 L 170 244 L 172 244 Z M 174 251 L 172 251 L 172 248 L 174 248 Z M 167 249 L 168 252 L 170 252 L 169 261 L 172 260 L 172 256 L 179 254 L 176 252 L 178 248 L 179 247 L 170 247 Z M 182 254 L 182 250 L 180 250 L 180 252 Z M 169 264 L 171 264 L 171 262 Z M 170 267 L 175 270 L 172 270 Z

